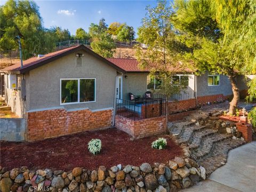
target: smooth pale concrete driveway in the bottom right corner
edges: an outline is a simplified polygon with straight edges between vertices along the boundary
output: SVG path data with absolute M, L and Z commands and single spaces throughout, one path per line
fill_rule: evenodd
M 253 192 L 256 191 L 256 142 L 229 151 L 226 165 L 214 171 L 209 179 L 181 191 Z

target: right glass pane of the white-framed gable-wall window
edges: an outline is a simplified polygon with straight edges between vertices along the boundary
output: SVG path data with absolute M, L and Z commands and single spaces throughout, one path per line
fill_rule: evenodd
M 95 101 L 95 79 L 80 79 L 80 102 Z

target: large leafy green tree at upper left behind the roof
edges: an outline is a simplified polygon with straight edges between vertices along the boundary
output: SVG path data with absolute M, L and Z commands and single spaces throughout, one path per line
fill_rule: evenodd
M 15 39 L 18 35 L 21 37 L 23 59 L 54 49 L 52 34 L 43 28 L 35 2 L 9 0 L 1 6 L 0 12 L 2 51 L 18 49 Z

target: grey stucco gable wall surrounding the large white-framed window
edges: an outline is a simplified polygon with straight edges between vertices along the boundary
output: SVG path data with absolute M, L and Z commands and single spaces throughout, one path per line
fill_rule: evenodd
M 26 87 L 27 110 L 61 106 L 60 78 L 96 78 L 96 101 L 63 105 L 66 109 L 114 107 L 116 69 L 86 52 L 83 54 L 82 67 L 76 67 L 76 53 L 71 53 L 30 70 Z

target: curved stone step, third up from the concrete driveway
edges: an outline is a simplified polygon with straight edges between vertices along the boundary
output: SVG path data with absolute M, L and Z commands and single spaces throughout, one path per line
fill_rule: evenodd
M 190 142 L 188 145 L 190 150 L 198 148 L 203 138 L 213 135 L 217 132 L 218 132 L 217 130 L 212 130 L 212 129 L 204 129 L 202 131 L 195 132 L 193 135 L 193 138 L 190 139 Z

